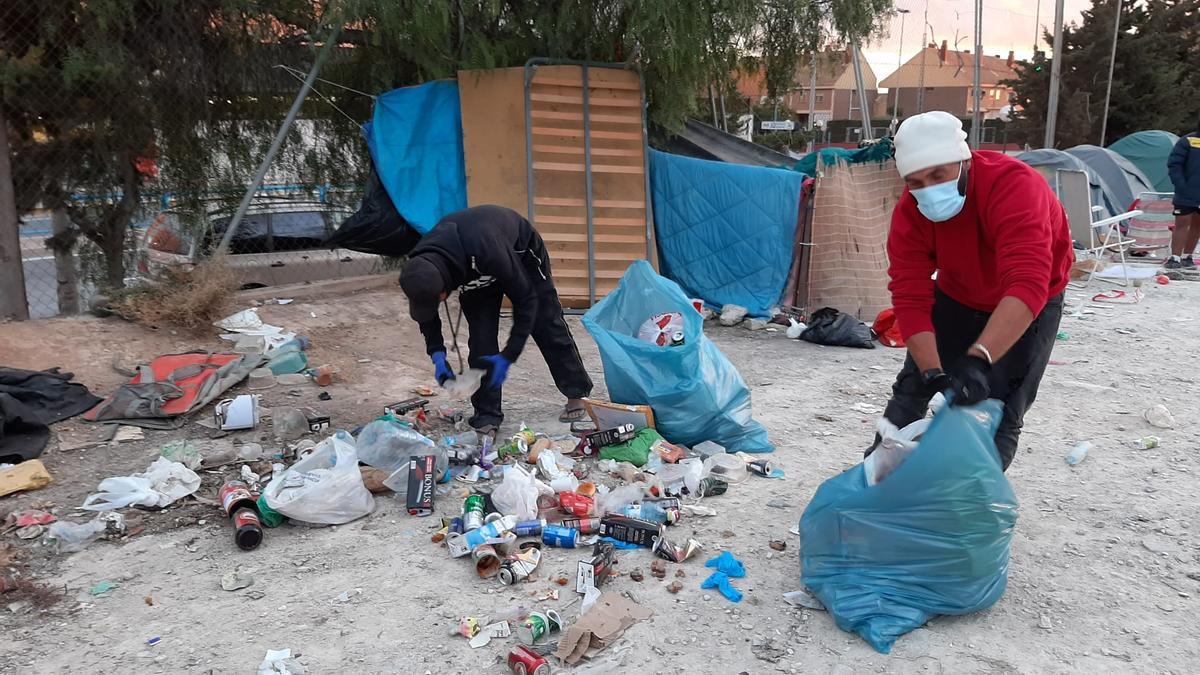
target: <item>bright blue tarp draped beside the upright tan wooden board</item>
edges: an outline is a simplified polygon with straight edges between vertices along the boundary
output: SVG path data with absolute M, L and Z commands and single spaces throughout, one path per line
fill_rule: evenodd
M 421 234 L 467 208 L 457 83 L 427 82 L 379 96 L 364 131 L 388 196 Z

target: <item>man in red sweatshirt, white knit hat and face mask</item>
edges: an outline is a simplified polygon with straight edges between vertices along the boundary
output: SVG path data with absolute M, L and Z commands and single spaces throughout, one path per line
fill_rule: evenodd
M 904 428 L 937 392 L 953 392 L 953 405 L 1000 399 L 1007 470 L 1062 318 L 1067 215 L 1025 163 L 972 153 L 949 113 L 905 120 L 895 159 L 907 190 L 892 214 L 888 288 L 908 357 L 883 417 Z

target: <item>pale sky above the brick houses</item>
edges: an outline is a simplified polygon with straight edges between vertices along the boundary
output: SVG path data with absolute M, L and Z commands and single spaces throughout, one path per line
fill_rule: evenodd
M 904 16 L 904 60 L 907 61 L 920 48 L 920 24 L 925 12 L 925 0 L 896 0 L 896 8 L 908 10 Z M 1079 22 L 1080 12 L 1092 6 L 1090 0 L 1066 0 L 1066 23 Z M 900 20 L 896 16 L 890 22 L 888 36 L 878 42 L 865 46 L 863 50 L 876 77 L 883 79 L 896 70 L 900 55 Z M 955 36 L 960 49 L 973 49 L 974 46 L 974 0 L 929 0 L 929 23 L 934 37 L 930 42 L 942 40 L 954 46 Z M 1038 47 L 1050 50 L 1042 42 L 1042 34 L 1054 24 L 1054 0 L 984 0 L 983 4 L 983 53 L 1007 56 L 1009 49 L 1018 59 L 1033 54 L 1034 35 Z M 1038 30 L 1037 26 L 1043 26 Z M 926 30 L 928 36 L 928 30 Z

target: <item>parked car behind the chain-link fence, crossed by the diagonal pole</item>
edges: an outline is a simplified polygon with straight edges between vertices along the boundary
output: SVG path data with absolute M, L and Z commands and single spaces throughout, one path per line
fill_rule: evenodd
M 253 202 L 229 240 L 227 264 L 242 288 L 362 276 L 383 271 L 383 258 L 347 249 L 328 249 L 325 238 L 354 211 L 320 202 Z M 140 240 L 138 271 L 192 265 L 212 257 L 233 213 L 196 216 L 166 210 Z

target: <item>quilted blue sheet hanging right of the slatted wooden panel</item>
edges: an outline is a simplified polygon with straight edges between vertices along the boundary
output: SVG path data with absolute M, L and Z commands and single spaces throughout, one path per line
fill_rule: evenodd
M 804 175 L 650 151 L 662 274 L 710 305 L 766 317 L 792 264 Z

